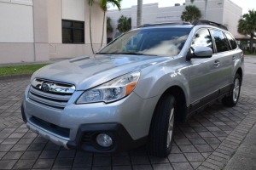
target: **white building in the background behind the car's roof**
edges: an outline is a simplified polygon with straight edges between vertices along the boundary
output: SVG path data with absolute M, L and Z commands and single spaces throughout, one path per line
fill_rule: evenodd
M 204 20 L 205 0 L 195 0 L 194 3 L 186 0 L 185 4 L 164 8 L 159 8 L 158 3 L 144 4 L 143 24 L 182 21 L 181 15 L 186 5 L 195 5 L 199 8 L 201 10 L 201 20 Z M 238 20 L 241 18 L 241 14 L 241 7 L 230 0 L 208 0 L 207 20 L 227 26 L 234 37 L 241 37 L 237 32 Z M 107 15 L 111 18 L 111 25 L 113 26 L 113 33 L 108 33 L 108 38 L 113 38 L 116 32 L 119 32 L 117 30 L 117 20 L 121 15 L 131 17 L 131 28 L 137 27 L 137 5 L 131 6 L 131 8 L 122 8 L 121 11 L 117 9 L 109 10 Z

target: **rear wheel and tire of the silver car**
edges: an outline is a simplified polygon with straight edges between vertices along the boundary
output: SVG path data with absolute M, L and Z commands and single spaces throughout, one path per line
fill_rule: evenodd
M 240 90 L 241 90 L 241 77 L 239 74 L 236 74 L 236 77 L 234 79 L 234 83 L 232 86 L 231 95 L 224 97 L 224 99 L 222 99 L 223 105 L 226 105 L 229 107 L 235 106 L 239 99 Z

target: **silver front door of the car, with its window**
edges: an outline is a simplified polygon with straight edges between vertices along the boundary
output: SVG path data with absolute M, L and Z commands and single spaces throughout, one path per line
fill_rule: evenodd
M 196 32 L 195 37 L 190 45 L 190 50 L 197 47 L 212 48 L 214 53 L 213 41 L 208 29 L 203 28 Z M 217 57 L 218 58 L 218 57 Z M 189 61 L 189 93 L 191 110 L 198 109 L 201 105 L 205 105 L 212 99 L 218 97 L 218 69 L 222 65 L 218 65 L 218 69 L 212 69 L 216 65 L 215 56 L 207 59 L 190 59 Z

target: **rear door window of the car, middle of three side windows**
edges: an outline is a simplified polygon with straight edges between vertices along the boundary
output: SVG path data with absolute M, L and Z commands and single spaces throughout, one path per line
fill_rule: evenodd
M 229 44 L 224 37 L 222 31 L 212 30 L 213 37 L 216 43 L 217 53 L 221 53 L 224 51 L 229 51 Z

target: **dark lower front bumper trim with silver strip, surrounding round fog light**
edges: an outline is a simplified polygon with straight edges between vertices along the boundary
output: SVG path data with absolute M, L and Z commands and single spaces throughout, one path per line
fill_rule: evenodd
M 23 106 L 21 106 L 21 111 Z M 24 111 L 22 111 L 24 113 Z M 24 120 L 26 117 L 22 114 Z M 83 150 L 95 153 L 116 153 L 125 150 L 131 150 L 147 142 L 147 136 L 142 139 L 133 140 L 131 135 L 125 130 L 125 127 L 119 123 L 101 123 L 101 124 L 84 124 L 79 127 L 77 138 L 74 141 L 68 141 L 56 137 L 51 133 L 45 132 L 43 129 L 26 122 L 26 127 L 34 133 L 38 133 L 44 139 L 49 139 L 52 143 L 61 145 L 66 149 Z M 113 139 L 113 145 L 103 148 L 96 143 L 96 135 L 99 133 L 107 133 Z

